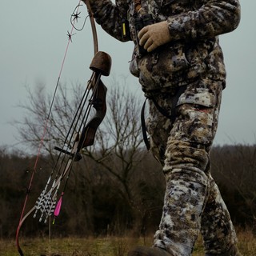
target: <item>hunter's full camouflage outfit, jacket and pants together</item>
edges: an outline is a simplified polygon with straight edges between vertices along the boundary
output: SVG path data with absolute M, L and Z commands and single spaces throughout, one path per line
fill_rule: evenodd
M 162 163 L 166 177 L 154 246 L 172 256 L 191 255 L 201 230 L 206 254 L 224 254 L 235 245 L 236 235 L 210 175 L 209 152 L 226 86 L 218 35 L 238 26 L 238 0 L 142 0 L 139 14 L 133 0 L 90 2 L 94 18 L 107 33 L 134 42 L 130 72 L 139 78 L 147 96 L 171 114 L 174 95 L 179 86 L 186 86 L 178 99 L 174 123 L 150 100 L 150 150 Z M 150 54 L 139 54 L 134 18 L 145 13 L 154 22 L 168 22 L 171 41 Z M 129 21 L 130 38 L 122 38 L 123 18 Z

